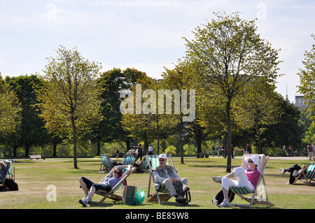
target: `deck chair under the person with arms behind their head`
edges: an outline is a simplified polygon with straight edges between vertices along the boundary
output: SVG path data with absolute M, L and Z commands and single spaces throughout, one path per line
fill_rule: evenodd
M 125 166 L 125 165 L 124 165 L 124 166 Z M 125 168 L 127 168 L 127 166 L 126 166 Z M 116 192 L 122 185 L 127 185 L 127 178 L 128 178 L 132 173 L 134 173 L 135 170 L 136 170 L 136 168 L 134 167 L 134 168 L 131 169 L 131 171 L 130 171 L 129 173 L 124 173 L 124 174 L 123 174 L 123 178 L 120 179 L 120 181 L 118 182 L 118 184 L 117 184 L 115 187 L 113 187 L 113 189 L 111 189 L 110 192 L 106 192 L 106 191 L 104 191 L 104 190 L 102 190 L 102 189 L 98 189 L 98 190 L 95 192 L 95 194 L 99 194 L 100 196 L 104 196 L 104 198 L 103 198 L 101 201 L 99 201 L 98 204 L 103 203 L 103 201 L 105 201 L 105 199 L 108 199 L 108 198 L 109 198 L 109 199 L 112 199 L 112 200 L 114 200 L 114 201 L 123 201 L 123 197 L 122 197 L 122 196 L 119 196 L 118 194 L 114 194 L 114 192 Z M 113 171 L 113 170 L 112 170 L 112 171 Z M 109 173 L 109 174 L 110 174 L 110 173 Z M 106 177 L 108 177 L 109 174 L 106 175 Z M 105 178 L 106 178 L 106 177 L 105 177 Z

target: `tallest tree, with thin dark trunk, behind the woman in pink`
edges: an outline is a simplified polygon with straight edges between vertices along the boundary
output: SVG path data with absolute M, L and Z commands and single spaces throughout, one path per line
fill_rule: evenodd
M 254 78 L 264 77 L 274 82 L 279 64 L 278 50 L 256 34 L 255 21 L 241 20 L 238 13 L 220 15 L 204 27 L 197 27 L 195 39 L 186 39 L 186 59 L 199 64 L 197 73 L 207 77 L 225 98 L 225 126 L 228 132 L 228 159 L 226 171 L 231 171 L 231 106 L 244 85 Z

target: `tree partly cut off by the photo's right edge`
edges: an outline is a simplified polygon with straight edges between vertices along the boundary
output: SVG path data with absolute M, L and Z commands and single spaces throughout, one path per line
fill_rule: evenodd
M 315 40 L 315 35 L 311 35 Z M 309 104 L 309 107 L 315 110 L 315 44 L 313 48 L 308 52 L 304 53 L 305 59 L 303 60 L 304 70 L 300 69 L 300 85 L 299 92 L 304 94 L 303 98 Z M 315 118 L 315 117 L 313 117 Z

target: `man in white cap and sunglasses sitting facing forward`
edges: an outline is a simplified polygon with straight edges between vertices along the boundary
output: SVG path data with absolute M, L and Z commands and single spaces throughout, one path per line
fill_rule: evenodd
M 176 202 L 178 203 L 186 202 L 186 199 L 183 196 L 177 195 L 177 192 L 174 186 L 179 185 L 180 182 L 183 185 L 188 185 L 188 179 L 179 178 L 179 175 L 174 170 L 174 167 L 167 166 L 166 154 L 159 155 L 159 162 L 160 162 L 160 166 L 158 166 L 157 168 L 153 170 L 154 179 L 155 179 L 154 189 L 160 189 L 160 187 L 165 186 L 171 193 L 171 196 L 176 197 Z

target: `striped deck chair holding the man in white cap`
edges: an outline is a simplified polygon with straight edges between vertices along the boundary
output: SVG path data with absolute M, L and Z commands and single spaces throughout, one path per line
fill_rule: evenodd
M 148 166 L 150 168 L 150 175 L 149 175 L 149 182 L 148 182 L 148 200 L 147 202 L 155 202 L 158 201 L 161 204 L 161 201 L 168 201 L 171 198 L 171 194 L 169 193 L 166 187 L 160 187 L 160 189 L 155 189 L 153 194 L 150 194 L 150 187 L 151 187 L 151 178 L 153 181 L 153 185 L 155 184 L 155 179 L 153 175 L 153 170 L 160 166 L 159 162 L 159 155 L 146 155 L 146 159 L 148 161 Z M 174 166 L 174 161 L 172 159 L 172 155 L 167 155 L 167 166 L 169 166 L 169 159 L 172 161 L 172 166 L 174 167 L 175 171 L 176 168 Z

